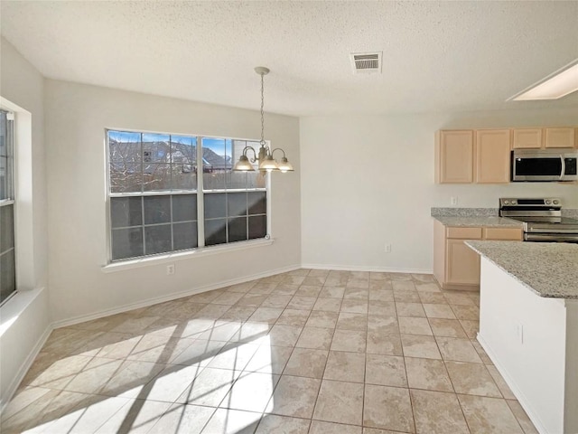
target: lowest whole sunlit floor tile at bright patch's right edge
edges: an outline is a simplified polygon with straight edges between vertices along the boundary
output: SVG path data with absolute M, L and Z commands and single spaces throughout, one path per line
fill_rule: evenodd
M 270 373 L 242 373 L 219 407 L 257 412 L 269 411 L 273 407 L 273 403 L 269 401 L 279 378 L 279 375 Z

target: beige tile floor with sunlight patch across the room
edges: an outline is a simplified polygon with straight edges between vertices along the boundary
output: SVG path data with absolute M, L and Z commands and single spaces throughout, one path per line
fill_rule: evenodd
M 2 432 L 534 433 L 479 295 L 298 269 L 54 330 Z

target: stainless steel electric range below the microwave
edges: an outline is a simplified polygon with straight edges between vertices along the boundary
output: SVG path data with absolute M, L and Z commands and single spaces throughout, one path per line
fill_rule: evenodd
M 499 215 L 524 223 L 524 241 L 578 243 L 578 219 L 562 216 L 559 198 L 501 198 Z

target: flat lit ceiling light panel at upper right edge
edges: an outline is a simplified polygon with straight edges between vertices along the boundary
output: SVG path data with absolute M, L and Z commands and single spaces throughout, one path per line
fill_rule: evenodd
M 578 59 L 564 66 L 544 80 L 522 90 L 508 101 L 560 99 L 578 90 Z

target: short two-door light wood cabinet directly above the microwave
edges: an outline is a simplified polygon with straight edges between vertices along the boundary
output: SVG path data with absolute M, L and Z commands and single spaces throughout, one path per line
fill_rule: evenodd
M 573 148 L 578 147 L 576 138 L 574 127 L 515 128 L 512 132 L 512 148 Z

